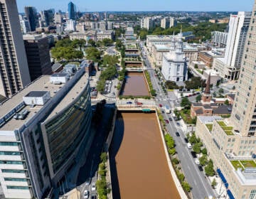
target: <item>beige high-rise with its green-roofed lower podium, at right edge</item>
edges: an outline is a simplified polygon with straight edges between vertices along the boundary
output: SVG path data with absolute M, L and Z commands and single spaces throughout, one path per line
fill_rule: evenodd
M 234 22 L 234 18 L 231 18 Z M 241 19 L 242 20 L 242 19 Z M 238 26 L 237 26 L 238 28 Z M 196 135 L 213 160 L 229 198 L 256 196 L 256 1 L 242 53 L 231 117 L 198 117 Z M 231 57 L 231 56 L 230 56 Z M 232 59 L 231 59 L 232 60 Z

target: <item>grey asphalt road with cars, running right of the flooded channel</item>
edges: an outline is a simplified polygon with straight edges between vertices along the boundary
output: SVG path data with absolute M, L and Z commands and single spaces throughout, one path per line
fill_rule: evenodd
M 147 68 L 151 68 L 151 65 L 148 62 L 149 60 L 144 58 Z M 157 96 L 159 97 L 158 104 L 161 104 L 162 107 L 165 105 L 169 105 L 172 109 L 174 109 L 174 104 L 176 98 L 173 95 L 166 96 L 159 85 L 159 80 L 154 76 L 154 70 L 149 70 L 149 74 L 151 75 L 151 82 L 156 90 Z M 169 99 L 169 100 L 168 100 Z M 170 100 L 171 99 L 171 100 Z M 213 193 L 213 189 L 208 183 L 205 175 L 202 171 L 199 171 L 198 165 L 196 165 L 193 157 L 191 156 L 190 149 L 188 149 L 184 138 L 186 137 L 186 132 L 183 132 L 181 127 L 178 126 L 177 122 L 174 121 L 174 118 L 171 114 L 163 113 L 164 119 L 169 119 L 171 117 L 173 119 L 172 122 L 166 125 L 169 134 L 174 137 L 176 143 L 176 151 L 178 153 L 178 158 L 181 161 L 181 168 L 186 176 L 186 180 L 191 185 L 191 192 L 193 194 L 193 198 L 203 199 L 208 197 L 209 195 L 215 196 Z M 176 136 L 176 132 L 180 134 L 180 136 Z

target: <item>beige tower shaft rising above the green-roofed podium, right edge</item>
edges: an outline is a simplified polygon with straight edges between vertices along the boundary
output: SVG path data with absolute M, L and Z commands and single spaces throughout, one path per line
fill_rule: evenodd
M 256 5 L 250 28 L 245 41 L 245 50 L 242 55 L 240 78 L 238 80 L 238 92 L 232 112 L 232 121 L 235 129 L 242 136 L 255 136 L 256 131 Z

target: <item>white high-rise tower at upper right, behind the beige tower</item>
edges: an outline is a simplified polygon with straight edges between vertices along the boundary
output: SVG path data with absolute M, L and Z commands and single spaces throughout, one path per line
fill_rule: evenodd
M 230 16 L 225 58 L 214 60 L 213 65 L 223 78 L 235 80 L 239 76 L 250 14 L 250 12 L 240 11 L 237 15 Z

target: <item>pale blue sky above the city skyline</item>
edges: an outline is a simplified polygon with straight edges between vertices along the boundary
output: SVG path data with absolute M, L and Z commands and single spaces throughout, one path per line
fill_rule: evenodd
M 18 11 L 68 11 L 68 0 L 16 0 Z M 79 11 L 252 11 L 254 0 L 73 0 Z

